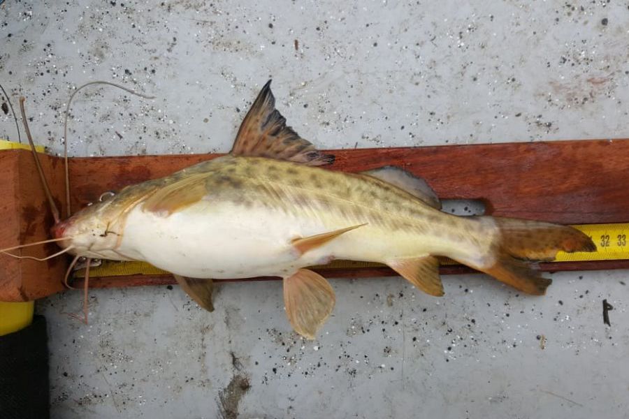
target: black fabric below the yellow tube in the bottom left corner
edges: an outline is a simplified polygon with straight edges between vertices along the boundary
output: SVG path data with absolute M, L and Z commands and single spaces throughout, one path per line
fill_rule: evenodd
M 0 417 L 50 417 L 46 319 L 35 316 L 27 328 L 0 336 Z

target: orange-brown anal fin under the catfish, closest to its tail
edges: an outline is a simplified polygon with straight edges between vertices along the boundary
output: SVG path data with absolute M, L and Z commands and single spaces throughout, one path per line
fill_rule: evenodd
M 396 259 L 386 264 L 424 293 L 435 295 L 435 297 L 443 295 L 443 284 L 439 277 L 439 260 L 434 256 Z

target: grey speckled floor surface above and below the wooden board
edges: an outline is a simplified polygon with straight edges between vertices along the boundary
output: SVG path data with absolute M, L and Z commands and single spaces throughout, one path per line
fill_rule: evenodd
M 608 1 L 6 0 L 0 82 L 52 152 L 73 87 L 157 96 L 80 94 L 73 155 L 225 152 L 271 77 L 326 148 L 619 138 L 628 29 Z M 552 277 L 541 298 L 480 275 L 445 277 L 440 299 L 332 281 L 317 341 L 290 331 L 277 281 L 220 286 L 213 314 L 176 287 L 94 290 L 89 326 L 62 314 L 80 310 L 68 291 L 38 302 L 52 417 L 629 418 L 628 272 Z

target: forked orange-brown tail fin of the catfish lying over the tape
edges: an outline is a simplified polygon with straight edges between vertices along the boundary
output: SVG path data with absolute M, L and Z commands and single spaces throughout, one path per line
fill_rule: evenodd
M 528 294 L 544 295 L 551 279 L 531 264 L 552 260 L 558 251 L 595 251 L 596 245 L 581 231 L 567 226 L 493 217 L 499 230 L 496 258 L 478 270 Z

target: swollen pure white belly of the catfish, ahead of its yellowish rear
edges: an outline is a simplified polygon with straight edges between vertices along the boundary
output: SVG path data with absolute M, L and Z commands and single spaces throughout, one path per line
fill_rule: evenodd
M 192 278 L 286 276 L 321 258 L 301 258 L 291 240 L 326 231 L 320 221 L 262 207 L 201 201 L 170 216 L 136 207 L 117 251 Z

